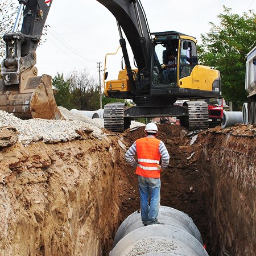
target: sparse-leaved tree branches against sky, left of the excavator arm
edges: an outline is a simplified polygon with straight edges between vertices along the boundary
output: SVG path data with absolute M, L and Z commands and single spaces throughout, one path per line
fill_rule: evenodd
M 18 11 L 17 1 L 0 0 L 0 59 L 5 56 L 5 42 L 3 35 L 11 32 Z

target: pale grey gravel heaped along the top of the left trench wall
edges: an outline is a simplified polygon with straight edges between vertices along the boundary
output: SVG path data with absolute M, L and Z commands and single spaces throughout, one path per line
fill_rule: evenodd
M 76 130 L 92 130 L 92 135 L 96 138 L 104 135 L 100 128 L 84 121 L 39 118 L 22 120 L 0 110 L 0 127 L 3 126 L 15 127 L 19 131 L 19 141 L 22 144 L 41 140 L 48 143 L 72 141 L 80 137 Z

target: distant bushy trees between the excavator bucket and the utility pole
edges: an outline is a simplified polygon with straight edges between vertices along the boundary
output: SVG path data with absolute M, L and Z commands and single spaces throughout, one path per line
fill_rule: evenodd
M 56 90 L 55 100 L 58 106 L 69 110 L 97 110 L 100 108 L 98 86 L 88 72 L 75 71 L 66 79 L 63 74 L 57 73 L 52 84 Z

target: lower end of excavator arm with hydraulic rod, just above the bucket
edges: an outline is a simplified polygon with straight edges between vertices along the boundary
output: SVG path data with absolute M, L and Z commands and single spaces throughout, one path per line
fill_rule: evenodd
M 2 76 L 6 85 L 19 84 L 20 74 L 36 64 L 36 47 L 52 1 L 19 0 L 19 13 L 13 32 L 3 36 L 6 43 L 6 59 L 2 63 Z M 23 11 L 20 32 L 16 32 Z

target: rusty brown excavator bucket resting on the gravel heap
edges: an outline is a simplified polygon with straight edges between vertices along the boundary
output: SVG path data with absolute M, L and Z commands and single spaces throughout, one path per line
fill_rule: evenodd
M 63 119 L 57 108 L 51 76 L 20 76 L 20 84 L 5 85 L 0 79 L 0 110 L 20 119 Z

